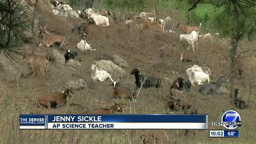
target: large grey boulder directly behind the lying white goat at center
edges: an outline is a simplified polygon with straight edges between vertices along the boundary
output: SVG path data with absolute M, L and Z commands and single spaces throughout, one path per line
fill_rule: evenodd
M 125 71 L 111 60 L 100 60 L 95 63 L 99 70 L 106 70 L 111 77 L 119 77 L 125 74 Z

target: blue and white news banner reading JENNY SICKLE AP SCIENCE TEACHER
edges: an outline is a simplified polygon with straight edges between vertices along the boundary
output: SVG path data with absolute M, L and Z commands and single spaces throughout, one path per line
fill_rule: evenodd
M 20 115 L 20 129 L 198 129 L 207 115 Z

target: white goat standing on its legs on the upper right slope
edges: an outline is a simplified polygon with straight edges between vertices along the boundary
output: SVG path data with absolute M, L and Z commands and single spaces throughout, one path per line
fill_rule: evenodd
M 198 35 L 196 31 L 192 31 L 191 34 L 180 34 L 180 41 L 185 40 L 187 41 L 189 44 L 192 45 L 193 47 L 193 51 L 195 51 L 195 44 L 196 44 L 196 49 L 198 49 L 197 47 L 197 41 L 198 41 Z M 188 51 L 189 51 L 189 45 L 188 45 Z

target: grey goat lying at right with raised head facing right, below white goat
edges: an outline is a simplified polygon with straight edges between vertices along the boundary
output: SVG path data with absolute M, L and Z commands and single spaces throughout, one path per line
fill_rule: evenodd
M 218 81 L 214 83 L 204 84 L 199 87 L 199 93 L 203 95 L 207 94 L 221 94 L 221 91 L 219 90 L 222 83 L 228 83 L 228 78 L 222 76 L 218 79 Z

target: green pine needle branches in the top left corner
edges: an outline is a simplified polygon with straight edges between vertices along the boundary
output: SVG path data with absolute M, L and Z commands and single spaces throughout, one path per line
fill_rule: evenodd
M 32 24 L 33 10 L 25 1 L 0 1 L 0 53 L 13 62 Z

